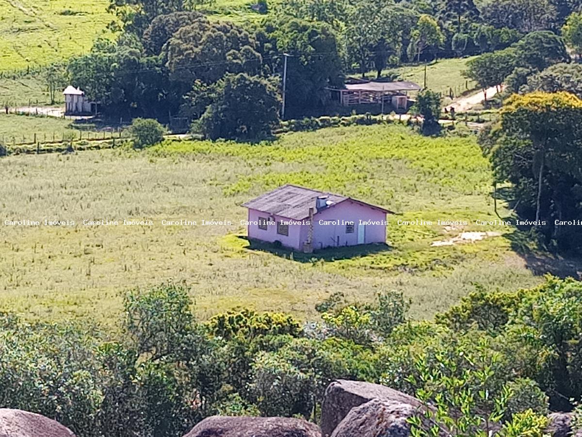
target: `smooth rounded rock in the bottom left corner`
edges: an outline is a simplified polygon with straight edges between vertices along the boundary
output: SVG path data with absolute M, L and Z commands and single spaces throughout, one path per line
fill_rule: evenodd
M 74 434 L 40 414 L 0 408 L 0 437 L 74 437 Z

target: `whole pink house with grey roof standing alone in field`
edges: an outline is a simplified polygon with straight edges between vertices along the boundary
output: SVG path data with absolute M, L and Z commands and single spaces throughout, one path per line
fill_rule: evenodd
M 244 203 L 250 239 L 303 252 L 386 242 L 391 211 L 332 193 L 283 185 Z

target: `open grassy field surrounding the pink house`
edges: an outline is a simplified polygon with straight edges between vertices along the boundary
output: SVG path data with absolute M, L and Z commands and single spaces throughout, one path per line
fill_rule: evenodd
M 290 133 L 260 145 L 176 141 L 143 152 L 0 159 L 0 309 L 29 318 L 118 316 L 121 295 L 165 280 L 192 288 L 201 318 L 236 305 L 313 317 L 335 291 L 366 301 L 402 290 L 413 315 L 430 318 L 474 289 L 511 290 L 540 281 L 513 251 L 516 232 L 480 227 L 495 218 L 491 174 L 474 139 L 427 139 L 404 126 Z M 306 257 L 251 248 L 240 205 L 294 183 L 385 206 L 390 248 Z M 502 215 L 507 214 L 501 210 Z M 74 220 L 64 227 L 4 220 Z M 88 220 L 152 220 L 91 225 Z M 402 226 L 402 220 L 468 220 L 467 226 Z M 230 220 L 232 225 L 162 226 L 161 220 Z M 461 231 L 499 236 L 431 246 Z M 115 319 L 117 317 L 114 317 Z

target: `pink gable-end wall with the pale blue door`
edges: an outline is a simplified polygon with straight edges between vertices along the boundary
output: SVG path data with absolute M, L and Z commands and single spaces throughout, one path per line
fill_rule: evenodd
M 338 221 L 338 224 L 320 224 L 320 220 Z M 346 224 L 343 221 L 354 222 L 354 232 L 346 233 Z M 358 244 L 358 228 L 362 221 L 385 221 L 386 214 L 370 206 L 361 205 L 352 200 L 345 200 L 336 206 L 330 206 L 321 212 L 315 213 L 313 217 L 313 249 L 322 249 L 335 246 L 354 246 Z M 386 242 L 386 225 L 372 224 L 363 225 L 364 244 Z M 301 226 L 300 247 L 307 241 L 307 226 Z M 339 244 L 338 244 L 339 237 Z

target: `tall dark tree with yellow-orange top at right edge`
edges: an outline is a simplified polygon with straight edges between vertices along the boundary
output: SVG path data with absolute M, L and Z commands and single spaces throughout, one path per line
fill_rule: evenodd
M 513 182 L 518 210 L 549 239 L 574 244 L 555 220 L 580 213 L 582 100 L 572 94 L 514 95 L 501 111 L 501 133 L 492 162 L 499 181 Z

